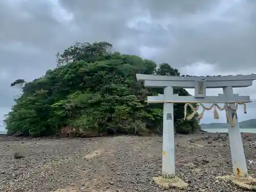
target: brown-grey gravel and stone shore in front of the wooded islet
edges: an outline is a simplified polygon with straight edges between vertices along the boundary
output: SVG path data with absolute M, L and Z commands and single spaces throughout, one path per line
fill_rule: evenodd
M 1 192 L 242 191 L 217 176 L 232 172 L 227 134 L 176 135 L 176 172 L 189 186 L 164 189 L 162 138 L 117 136 L 91 139 L 0 137 Z M 242 134 L 249 174 L 256 175 L 256 134 Z M 14 153 L 24 154 L 15 159 Z

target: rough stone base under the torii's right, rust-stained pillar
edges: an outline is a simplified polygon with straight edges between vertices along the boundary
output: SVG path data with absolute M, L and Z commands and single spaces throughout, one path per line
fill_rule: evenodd
M 227 175 L 227 176 L 217 177 L 217 179 L 222 180 L 224 182 L 231 181 L 233 184 L 246 190 L 253 190 L 253 191 L 256 190 L 256 179 L 250 176 L 247 176 L 246 178 L 242 178 L 234 175 Z

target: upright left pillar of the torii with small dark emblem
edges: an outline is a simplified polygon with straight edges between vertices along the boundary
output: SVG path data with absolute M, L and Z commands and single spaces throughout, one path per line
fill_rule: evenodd
M 165 100 L 172 100 L 173 87 L 164 88 Z M 163 104 L 163 154 L 162 177 L 175 177 L 175 151 L 174 151 L 174 105 Z

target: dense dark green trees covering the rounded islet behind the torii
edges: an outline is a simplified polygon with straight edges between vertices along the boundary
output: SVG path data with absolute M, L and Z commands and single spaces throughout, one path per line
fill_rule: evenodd
M 147 104 L 146 96 L 163 89 L 145 89 L 136 74 L 180 76 L 167 63 L 111 51 L 108 42 L 82 43 L 57 54 L 57 68 L 32 82 L 14 81 L 23 94 L 4 120 L 8 133 L 47 136 L 71 127 L 88 135 L 159 133 L 163 104 Z M 24 86 L 24 83 L 25 86 Z M 174 89 L 189 95 L 184 89 Z M 180 121 L 184 104 L 175 104 L 176 131 L 200 129 L 196 119 Z

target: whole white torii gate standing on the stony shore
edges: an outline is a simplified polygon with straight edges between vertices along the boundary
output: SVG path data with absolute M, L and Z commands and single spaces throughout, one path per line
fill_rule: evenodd
M 239 122 L 236 114 L 235 103 L 251 102 L 249 96 L 233 94 L 233 88 L 252 86 L 256 80 L 256 74 L 237 76 L 214 76 L 214 77 L 182 77 L 182 76 L 158 76 L 158 75 L 136 75 L 138 81 L 143 81 L 145 87 L 164 88 L 164 94 L 148 96 L 148 103 L 164 103 L 163 106 L 163 154 L 162 154 L 162 176 L 154 178 L 158 184 L 168 184 L 175 178 L 175 150 L 174 150 L 174 109 L 173 103 L 225 103 L 227 105 L 228 133 L 233 165 L 233 176 L 228 177 L 248 178 L 247 165 L 244 155 L 242 138 L 239 130 Z M 194 88 L 195 96 L 179 96 L 173 94 L 173 87 Z M 219 96 L 206 96 L 207 88 L 223 88 L 223 94 Z M 233 115 L 236 115 L 236 123 L 232 125 Z M 167 180 L 166 180 L 167 179 Z M 175 181 L 181 184 L 173 186 L 186 186 L 180 179 Z

